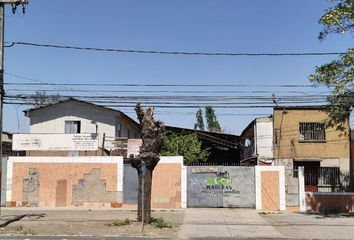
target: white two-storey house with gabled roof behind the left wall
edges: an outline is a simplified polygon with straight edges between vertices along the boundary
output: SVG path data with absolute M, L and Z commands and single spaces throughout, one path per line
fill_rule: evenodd
M 24 111 L 30 118 L 30 133 L 41 140 L 40 135 L 58 134 L 51 144 L 55 146 L 63 137 L 59 135 L 95 135 L 97 151 L 74 151 L 75 156 L 119 155 L 127 156 L 128 149 L 138 149 L 139 124 L 123 112 L 73 98 Z M 47 136 L 48 137 L 48 136 Z M 43 137 L 45 138 L 45 137 Z M 35 141 L 34 139 L 33 141 Z M 44 141 L 44 140 L 43 140 Z M 128 144 L 138 144 L 130 146 Z M 46 144 L 48 141 L 46 141 Z M 53 147 L 54 148 L 54 147 Z M 60 148 L 60 147 L 58 147 Z M 28 150 L 28 149 L 26 149 Z M 61 149 L 62 150 L 62 149 Z M 27 151 L 28 156 L 67 156 L 68 151 Z

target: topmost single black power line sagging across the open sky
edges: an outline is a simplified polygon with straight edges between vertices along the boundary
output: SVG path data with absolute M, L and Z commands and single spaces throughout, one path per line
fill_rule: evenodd
M 81 51 L 98 51 L 98 52 L 116 52 L 116 53 L 137 53 L 137 54 L 160 54 L 160 55 L 186 55 L 186 56 L 230 56 L 230 57 L 286 57 L 286 56 L 326 56 L 340 55 L 345 52 L 287 52 L 287 53 L 249 53 L 249 52 L 185 52 L 185 51 L 160 51 L 160 50 L 137 50 L 137 49 L 116 49 L 116 48 L 98 48 L 98 47 L 80 47 L 57 44 L 41 44 L 32 42 L 6 42 L 6 47 L 14 47 L 16 45 L 41 47 L 41 48 L 58 48 L 72 49 Z

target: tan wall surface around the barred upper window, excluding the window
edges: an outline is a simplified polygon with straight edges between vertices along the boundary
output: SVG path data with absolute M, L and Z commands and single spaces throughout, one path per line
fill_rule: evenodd
M 277 143 L 274 152 L 276 159 L 319 160 L 330 166 L 340 165 L 349 170 L 349 125 L 346 132 L 340 132 L 335 127 L 326 129 L 325 142 L 301 142 L 300 122 L 325 122 L 327 113 L 320 109 L 275 109 L 274 129 L 277 132 Z M 342 133 L 342 135 L 340 135 Z M 337 161 L 337 163 L 334 163 Z

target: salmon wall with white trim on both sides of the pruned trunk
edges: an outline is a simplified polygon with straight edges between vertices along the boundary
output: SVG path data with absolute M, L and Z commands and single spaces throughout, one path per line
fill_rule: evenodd
M 136 208 L 123 204 L 120 157 L 15 157 L 8 173 L 7 206 Z M 183 158 L 162 157 L 153 173 L 152 207 L 185 208 L 186 187 Z

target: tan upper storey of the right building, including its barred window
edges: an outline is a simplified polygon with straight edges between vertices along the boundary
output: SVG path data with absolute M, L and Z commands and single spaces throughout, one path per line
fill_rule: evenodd
M 345 130 L 326 125 L 325 107 L 274 108 L 274 157 L 287 169 L 336 167 L 350 170 L 349 116 Z

